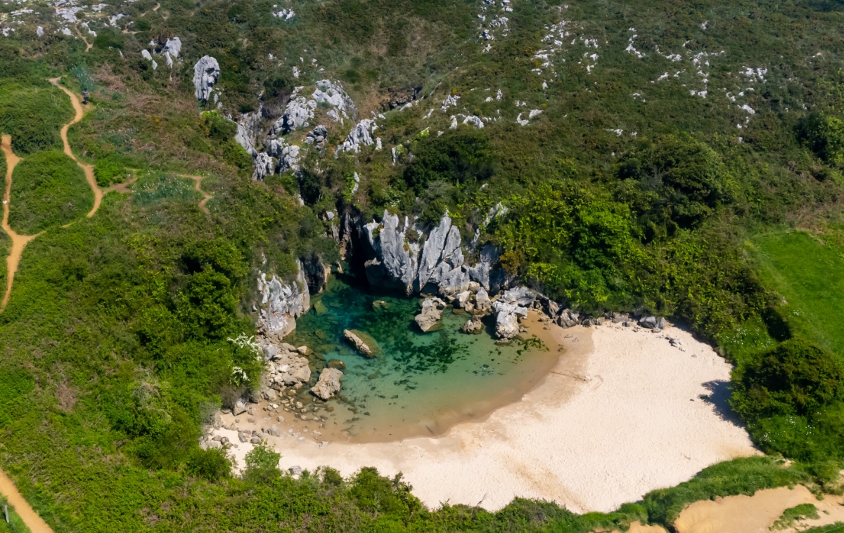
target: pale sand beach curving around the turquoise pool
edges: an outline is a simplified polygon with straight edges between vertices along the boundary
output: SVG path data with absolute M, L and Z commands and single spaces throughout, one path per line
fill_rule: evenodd
M 361 466 L 387 476 L 403 472 L 431 507 L 448 502 L 495 510 L 524 497 L 581 513 L 614 510 L 705 466 L 758 453 L 744 428 L 713 405 L 726 401 L 729 364 L 685 331 L 663 333 L 681 339 L 684 351 L 650 331 L 552 326 L 544 335 L 553 334 L 567 351 L 544 382 L 522 401 L 438 439 L 320 448 L 303 433 L 304 440 L 269 442 L 281 452 L 283 468 L 333 466 L 344 476 Z M 711 389 L 713 401 L 701 400 Z M 236 442 L 234 432 L 219 433 Z M 237 459 L 251 447 L 239 444 Z

